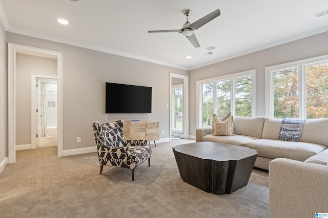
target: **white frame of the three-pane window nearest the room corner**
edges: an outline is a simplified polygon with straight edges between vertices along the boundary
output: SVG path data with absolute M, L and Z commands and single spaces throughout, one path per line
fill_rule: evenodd
M 216 82 L 218 81 L 224 81 L 224 80 L 230 80 L 231 82 L 231 115 L 235 115 L 235 79 L 242 78 L 245 76 L 251 76 L 252 78 L 252 114 L 251 116 L 256 115 L 256 70 L 247 70 L 247 71 L 242 71 L 242 72 L 237 72 L 235 74 L 229 74 L 229 75 L 224 75 L 220 77 L 215 77 L 215 78 L 209 78 L 209 79 L 204 79 L 204 80 L 198 80 L 196 81 L 196 126 L 197 128 L 201 128 L 201 123 L 202 123 L 202 104 L 201 104 L 201 99 L 202 99 L 202 90 L 201 86 L 207 83 L 212 83 L 213 84 L 213 113 L 216 113 L 216 106 L 217 106 L 217 96 L 216 96 Z

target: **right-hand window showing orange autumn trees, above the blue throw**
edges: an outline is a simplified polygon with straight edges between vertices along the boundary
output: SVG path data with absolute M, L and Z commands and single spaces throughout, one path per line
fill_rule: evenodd
M 265 68 L 266 116 L 328 117 L 328 56 Z

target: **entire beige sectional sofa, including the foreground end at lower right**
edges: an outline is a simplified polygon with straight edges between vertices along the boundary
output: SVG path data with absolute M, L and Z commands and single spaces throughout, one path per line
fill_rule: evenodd
M 301 142 L 279 140 L 282 119 L 233 117 L 235 136 L 196 129 L 196 141 L 245 146 L 258 151 L 255 166 L 269 169 L 270 218 L 328 213 L 328 118 L 306 119 Z

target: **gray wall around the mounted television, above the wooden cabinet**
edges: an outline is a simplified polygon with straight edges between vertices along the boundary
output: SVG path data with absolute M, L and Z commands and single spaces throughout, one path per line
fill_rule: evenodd
M 63 53 L 64 150 L 95 145 L 91 124 L 117 119 L 158 121 L 160 138 L 169 138 L 169 73 L 187 70 L 83 49 L 63 43 L 6 33 L 6 42 Z M 150 114 L 106 114 L 105 82 L 151 86 Z M 161 134 L 161 130 L 165 134 Z M 81 137 L 81 143 L 76 143 Z M 8 154 L 7 154 L 8 155 Z

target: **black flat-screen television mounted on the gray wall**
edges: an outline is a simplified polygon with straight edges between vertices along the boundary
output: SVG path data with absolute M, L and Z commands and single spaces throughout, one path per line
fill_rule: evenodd
M 152 87 L 106 83 L 106 113 L 151 113 Z

